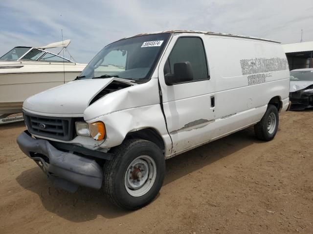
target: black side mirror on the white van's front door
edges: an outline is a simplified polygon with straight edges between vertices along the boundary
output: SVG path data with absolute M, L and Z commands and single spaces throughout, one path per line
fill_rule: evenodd
M 174 75 L 166 74 L 164 76 L 167 85 L 191 81 L 194 79 L 191 63 L 188 61 L 174 64 Z

